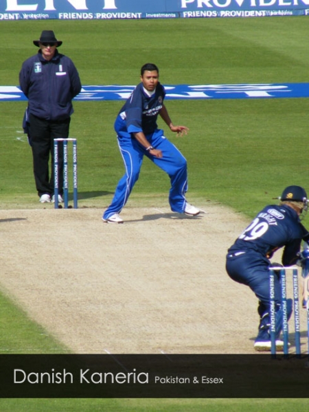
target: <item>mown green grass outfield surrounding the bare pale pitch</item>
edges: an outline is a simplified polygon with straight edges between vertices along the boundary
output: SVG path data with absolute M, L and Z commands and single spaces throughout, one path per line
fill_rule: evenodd
M 155 62 L 163 84 L 308 82 L 308 17 L 143 21 L 1 21 L 1 85 L 18 85 L 42 30 L 63 41 L 82 84 L 137 84 Z M 167 136 L 188 160 L 188 200 L 220 202 L 252 218 L 286 185 L 308 179 L 308 99 L 166 102 L 187 137 Z M 38 203 L 30 147 L 21 133 L 26 102 L 0 102 L 0 207 Z M 80 207 L 104 209 L 123 174 L 113 122 L 122 102 L 75 102 Z M 160 125 L 163 124 L 160 122 Z M 145 161 L 128 205 L 167 205 L 167 176 Z M 308 220 L 308 218 L 307 218 Z M 306 220 L 304 220 L 306 225 Z M 100 221 L 98 221 L 98 225 Z M 309 224 L 308 224 L 309 226 Z M 67 348 L 1 297 L 0 353 Z M 304 411 L 308 400 L 0 400 L 0 411 Z M 308 407 L 308 406 L 307 406 Z

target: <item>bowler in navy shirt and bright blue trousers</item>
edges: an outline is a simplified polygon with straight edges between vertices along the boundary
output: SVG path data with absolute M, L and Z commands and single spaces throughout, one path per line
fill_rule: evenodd
M 108 223 L 123 223 L 119 216 L 133 190 L 144 156 L 170 177 L 169 203 L 172 211 L 197 216 L 200 210 L 185 198 L 187 192 L 187 160 L 157 126 L 161 116 L 178 136 L 187 135 L 186 126 L 174 126 L 164 104 L 165 89 L 159 82 L 159 69 L 152 63 L 141 67 L 141 82 L 119 111 L 115 131 L 125 174 L 120 179 L 111 205 L 102 216 Z

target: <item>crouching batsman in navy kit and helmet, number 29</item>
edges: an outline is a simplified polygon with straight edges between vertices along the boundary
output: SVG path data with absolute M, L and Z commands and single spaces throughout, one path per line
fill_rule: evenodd
M 309 241 L 309 233 L 301 224 L 308 209 L 308 198 L 303 187 L 286 187 L 279 197 L 279 205 L 268 205 L 258 213 L 229 248 L 226 270 L 236 282 L 249 286 L 259 299 L 260 324 L 254 348 L 271 350 L 270 329 L 270 259 L 277 249 L 284 247 L 282 264 L 291 266 L 299 259 L 301 241 Z M 279 273 L 275 277 L 276 349 L 283 349 L 279 339 L 282 331 L 281 286 Z M 288 319 L 292 314 L 292 299 L 288 299 Z

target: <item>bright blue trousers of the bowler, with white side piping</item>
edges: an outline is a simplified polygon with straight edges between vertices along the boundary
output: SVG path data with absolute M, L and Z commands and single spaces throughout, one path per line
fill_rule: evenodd
M 163 136 L 163 130 L 155 130 L 154 133 L 146 135 L 150 144 L 162 151 L 161 159 L 150 155 L 141 144 L 128 133 L 118 132 L 117 139 L 119 150 L 124 160 L 126 172 L 115 190 L 115 195 L 110 206 L 104 211 L 103 218 L 108 219 L 115 213 L 120 213 L 137 179 L 143 163 L 147 156 L 159 168 L 170 176 L 169 202 L 172 211 L 183 213 L 185 210 L 185 193 L 187 192 L 187 161 L 181 152 L 168 139 Z

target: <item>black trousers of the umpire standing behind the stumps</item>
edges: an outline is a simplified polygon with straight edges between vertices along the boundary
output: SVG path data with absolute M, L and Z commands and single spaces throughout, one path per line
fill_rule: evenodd
M 54 139 L 69 137 L 71 118 L 64 120 L 40 119 L 30 113 L 30 144 L 32 147 L 34 179 L 38 196 L 54 194 Z M 49 174 L 49 157 L 52 159 L 52 170 Z M 58 147 L 59 162 L 59 194 L 63 193 L 63 145 Z M 50 176 L 50 178 L 49 178 Z

